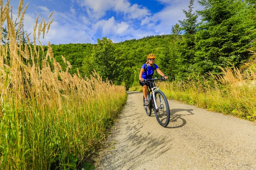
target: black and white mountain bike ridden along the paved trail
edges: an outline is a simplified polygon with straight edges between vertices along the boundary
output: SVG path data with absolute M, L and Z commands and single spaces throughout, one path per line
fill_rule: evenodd
M 145 98 L 143 95 L 143 106 L 148 116 L 151 116 L 152 109 L 154 110 L 157 122 L 166 127 L 170 121 L 170 109 L 169 103 L 166 99 L 165 94 L 156 87 L 156 81 L 164 81 L 164 78 L 144 79 L 145 83 L 148 84 L 147 98 L 149 105 L 145 105 Z

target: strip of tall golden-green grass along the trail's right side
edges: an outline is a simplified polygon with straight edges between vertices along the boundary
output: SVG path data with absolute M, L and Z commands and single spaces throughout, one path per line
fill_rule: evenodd
M 160 88 L 170 99 L 180 100 L 209 111 L 231 114 L 242 119 L 256 119 L 256 65 L 221 68 L 222 74 L 211 79 L 188 79 L 162 83 Z

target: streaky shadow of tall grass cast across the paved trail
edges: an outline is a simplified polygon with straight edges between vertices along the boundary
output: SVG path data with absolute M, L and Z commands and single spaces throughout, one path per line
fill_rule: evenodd
M 128 165 L 125 169 L 138 169 L 141 162 L 154 161 L 154 159 L 172 148 L 173 139 L 166 138 L 166 134 L 155 135 L 151 134 L 150 131 L 145 131 L 143 124 L 147 123 L 147 120 L 141 118 L 141 113 L 138 112 L 133 113 L 133 116 L 137 119 L 136 124 L 133 121 L 122 122 L 119 127 L 124 128 L 115 131 L 117 134 L 125 131 L 126 137 L 122 139 L 118 146 L 116 145 L 117 148 L 115 150 L 112 150 L 112 153 L 120 157 L 119 159 L 115 158 L 116 163 L 111 164 L 109 170 L 120 169 L 124 164 Z M 130 115 L 122 117 L 122 119 L 129 118 L 131 118 Z M 108 156 L 106 159 L 113 159 L 111 155 Z

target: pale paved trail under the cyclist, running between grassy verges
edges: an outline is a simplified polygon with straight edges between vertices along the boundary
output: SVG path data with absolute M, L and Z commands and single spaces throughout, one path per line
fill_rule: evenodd
M 171 120 L 147 116 L 143 94 L 129 91 L 111 143 L 96 169 L 256 170 L 256 125 L 169 100 Z

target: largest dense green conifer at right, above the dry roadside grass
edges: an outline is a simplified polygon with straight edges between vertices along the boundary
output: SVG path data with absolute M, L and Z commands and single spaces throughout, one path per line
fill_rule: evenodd
M 249 44 L 246 38 L 244 17 L 238 13 L 243 6 L 241 0 L 201 0 L 204 9 L 197 11 L 202 22 L 195 35 L 195 59 L 193 68 L 199 74 L 221 72 L 219 66 L 236 66 L 246 59 L 244 50 Z M 243 58 L 244 57 L 244 58 Z M 230 64 L 232 63 L 232 64 Z

